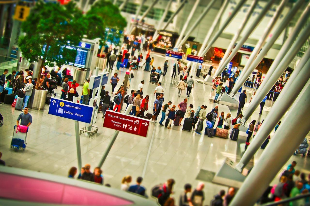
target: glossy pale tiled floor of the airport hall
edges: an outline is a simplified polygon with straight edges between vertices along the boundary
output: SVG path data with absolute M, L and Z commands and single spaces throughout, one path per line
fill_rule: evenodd
M 154 66 L 163 66 L 165 57 L 157 54 L 154 56 Z M 161 78 L 162 86 L 165 89 L 165 102 L 172 101 L 174 105 L 179 104 L 185 98 L 185 92 L 178 97 L 176 85 L 173 84 L 172 59 L 169 59 L 170 68 L 167 76 Z M 113 70 L 111 73 L 114 73 Z M 117 71 L 121 81 L 124 78 L 125 70 Z M 113 74 L 111 74 L 113 75 Z M 149 84 L 149 72 L 134 71 L 135 78 L 131 79 L 130 89 L 137 89 L 141 80 L 145 80 L 144 95 L 150 96 L 150 104 L 153 105 L 153 96 L 156 85 Z M 195 75 L 194 75 L 195 76 Z M 176 78 L 177 80 L 178 78 Z M 121 82 L 120 81 L 120 82 Z M 119 88 L 120 83 L 116 88 Z M 106 86 L 111 91 L 111 86 Z M 82 87 L 78 88 L 81 93 Z M 209 97 L 213 96 L 211 86 L 198 84 L 195 82 L 188 105 L 193 104 L 196 110 L 198 105 L 207 105 L 207 112 L 214 108 L 215 104 L 210 103 Z M 57 89 L 57 97 L 60 97 L 60 88 Z M 247 106 L 247 105 L 246 105 Z M 245 108 L 246 108 L 245 106 Z M 10 142 L 13 127 L 20 111 L 15 110 L 11 105 L 0 105 L 0 112 L 4 118 L 4 125 L 0 128 L 0 150 L 3 153 L 2 159 L 7 165 L 25 168 L 29 170 L 47 172 L 61 176 L 67 176 L 71 166 L 77 166 L 77 153 L 75 145 L 75 133 L 73 120 L 64 119 L 48 114 L 48 105 L 44 111 L 29 110 L 33 117 L 33 123 L 29 128 L 27 148 L 25 151 L 14 152 L 10 149 Z M 149 105 L 149 111 L 152 106 Z M 236 109 L 229 109 L 226 105 L 219 105 L 219 111 L 228 112 L 235 116 Z M 262 118 L 268 111 L 264 111 Z M 257 119 L 259 108 L 250 119 Z M 82 165 L 91 164 L 92 168 L 97 166 L 104 150 L 110 142 L 113 130 L 102 127 L 102 114 L 97 116 L 95 126 L 99 127 L 95 137 L 88 138 L 81 136 Z M 148 146 L 154 131 L 155 123 L 149 127 L 148 137 L 143 138 L 136 135 L 120 132 L 106 161 L 103 165 L 104 183 L 109 183 L 112 187 L 119 188 L 123 176 L 129 174 L 135 180 L 143 171 Z M 80 128 L 84 123 L 80 123 Z M 242 151 L 241 151 L 242 152 Z M 262 150 L 256 153 L 254 162 L 257 161 Z M 143 185 L 150 193 L 151 187 L 155 184 L 165 182 L 168 178 L 176 181 L 172 195 L 178 202 L 180 192 L 185 183 L 193 184 L 196 187 L 198 180 L 197 174 L 201 169 L 217 172 L 226 157 L 235 160 L 240 155 L 237 143 L 230 139 L 208 138 L 204 135 L 196 135 L 194 131 L 182 131 L 181 127 L 172 127 L 168 130 L 156 124 L 155 139 L 151 150 L 148 168 L 144 177 Z M 270 159 L 273 161 L 272 157 Z M 297 168 L 309 173 L 308 158 L 292 156 L 289 160 L 298 162 Z M 285 167 L 285 166 L 284 166 Z M 283 168 L 284 168 L 283 167 Z M 277 178 L 276 178 L 277 179 Z M 277 181 L 275 179 L 275 181 Z M 205 182 L 205 204 L 209 204 L 213 195 L 221 189 L 227 187 Z

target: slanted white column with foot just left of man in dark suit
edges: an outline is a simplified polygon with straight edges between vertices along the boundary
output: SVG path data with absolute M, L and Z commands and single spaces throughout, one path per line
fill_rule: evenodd
M 296 12 L 299 10 L 301 5 L 303 5 L 303 0 L 297 1 L 294 6 L 290 9 L 290 11 L 286 14 L 284 19 L 281 21 L 277 29 L 272 34 L 271 38 L 266 42 L 266 44 L 263 46 L 262 50 L 259 51 L 259 54 L 255 59 L 253 59 L 252 63 L 247 63 L 244 67 L 241 75 L 238 78 L 238 81 L 235 83 L 235 87 L 232 89 L 232 97 L 238 92 L 237 88 L 240 88 L 241 85 L 243 85 L 246 82 L 246 79 L 248 76 L 252 74 L 252 72 L 255 70 L 255 68 L 259 65 L 259 62 L 261 62 L 264 58 L 264 56 L 267 54 L 269 49 L 272 47 L 275 41 L 277 41 L 278 36 L 282 33 L 282 31 L 287 27 L 287 25 L 290 23 L 291 19 L 294 17 Z M 252 54 L 251 54 L 252 56 Z M 250 56 L 250 58 L 251 58 Z M 256 56 L 256 55 L 255 55 Z M 250 60 L 248 61 L 250 62 Z

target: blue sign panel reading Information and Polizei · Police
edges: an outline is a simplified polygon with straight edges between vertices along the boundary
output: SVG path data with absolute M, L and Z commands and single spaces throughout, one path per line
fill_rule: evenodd
M 91 123 L 94 107 L 82 105 L 63 99 L 51 98 L 48 114 L 58 117 L 76 120 L 79 122 Z

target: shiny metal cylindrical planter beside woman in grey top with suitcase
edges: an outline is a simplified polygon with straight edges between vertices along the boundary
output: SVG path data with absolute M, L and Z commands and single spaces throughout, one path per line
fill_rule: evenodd
M 47 89 L 39 88 L 39 89 L 32 89 L 31 96 L 29 98 L 28 107 L 30 109 L 44 109 L 45 101 L 47 96 Z

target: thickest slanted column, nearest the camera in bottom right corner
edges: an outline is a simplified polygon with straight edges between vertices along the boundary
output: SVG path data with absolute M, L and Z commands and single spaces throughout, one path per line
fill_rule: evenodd
M 300 93 L 230 206 L 254 205 L 310 130 L 310 82 Z M 296 129 L 298 128 L 298 129 Z M 256 137 L 256 135 L 255 135 Z M 279 152 L 282 151 L 282 152 Z M 266 172 L 268 171 L 268 172 Z

